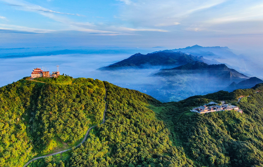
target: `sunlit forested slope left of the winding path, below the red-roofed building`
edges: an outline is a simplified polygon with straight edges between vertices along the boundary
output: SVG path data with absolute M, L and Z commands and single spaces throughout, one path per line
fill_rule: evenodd
M 70 148 L 101 122 L 102 81 L 69 76 L 45 81 L 51 83 L 22 79 L 0 88 L 0 166 L 23 166 L 35 155 Z

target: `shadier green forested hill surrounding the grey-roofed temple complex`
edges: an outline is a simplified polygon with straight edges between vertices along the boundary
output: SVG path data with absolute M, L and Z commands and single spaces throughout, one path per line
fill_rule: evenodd
M 149 108 L 164 121 L 173 144 L 182 146 L 195 166 L 262 166 L 263 85 L 253 88 L 231 93 L 219 91 Z M 241 96 L 244 97 L 236 104 Z M 236 111 L 207 114 L 189 111 L 192 107 L 221 100 L 238 105 L 243 114 Z

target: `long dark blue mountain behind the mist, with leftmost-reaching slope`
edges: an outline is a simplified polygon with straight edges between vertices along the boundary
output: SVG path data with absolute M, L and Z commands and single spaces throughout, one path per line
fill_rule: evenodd
M 123 68 L 151 68 L 151 66 L 161 67 L 176 67 L 193 61 L 200 61 L 206 63 L 214 63 L 210 60 L 204 59 L 202 56 L 194 57 L 182 52 L 173 52 L 171 50 L 164 50 L 157 53 L 148 53 L 143 55 L 136 53 L 129 58 L 109 65 L 107 67 L 99 68 L 99 70 L 117 70 Z

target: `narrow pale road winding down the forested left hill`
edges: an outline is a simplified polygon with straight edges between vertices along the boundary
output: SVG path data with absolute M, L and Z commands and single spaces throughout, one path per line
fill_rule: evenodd
M 38 81 L 38 82 L 40 82 L 40 81 Z M 44 82 L 43 82 L 43 83 L 44 83 Z M 107 98 L 107 89 L 106 89 L 105 86 L 104 86 L 104 89 L 105 89 L 104 101 L 106 101 L 106 98 Z M 102 122 L 101 122 L 100 124 L 104 124 L 104 123 L 105 123 L 105 114 L 106 114 L 106 111 L 107 111 L 107 102 L 105 103 L 105 109 L 104 109 L 104 112 L 103 112 L 103 119 L 102 119 Z M 85 134 L 84 139 L 83 139 L 83 140 L 81 141 L 81 143 L 78 144 L 75 148 L 79 147 L 81 144 L 83 144 L 83 143 L 85 142 L 85 140 L 87 139 L 88 133 L 89 133 L 90 130 L 91 130 L 93 127 L 95 127 L 95 126 L 97 126 L 97 125 L 94 125 L 94 126 L 88 128 L 88 130 L 87 130 L 87 132 L 86 132 L 86 134 Z M 51 155 L 57 155 L 57 154 L 64 153 L 64 152 L 69 151 L 69 150 L 72 150 L 72 148 L 69 148 L 69 149 L 67 149 L 67 150 L 62 150 L 62 151 L 59 151 L 59 152 L 57 152 L 57 153 L 52 153 L 52 154 L 43 155 L 43 156 L 34 158 L 34 159 L 28 161 L 23 167 L 28 166 L 28 164 L 29 164 L 30 162 L 35 161 L 35 160 L 37 160 L 37 159 L 45 158 L 45 157 L 48 157 L 48 156 L 51 156 Z

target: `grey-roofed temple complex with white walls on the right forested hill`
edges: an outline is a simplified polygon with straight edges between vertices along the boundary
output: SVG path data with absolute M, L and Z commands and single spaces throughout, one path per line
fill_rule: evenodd
M 222 105 L 218 105 L 217 103 L 211 101 L 209 104 L 217 104 L 217 105 L 206 106 L 206 104 L 205 104 L 203 106 L 193 108 L 190 111 L 197 112 L 199 114 L 204 114 L 204 113 L 207 113 L 207 112 L 235 110 L 237 112 L 243 113 L 243 110 L 239 109 L 239 107 L 237 107 L 237 106 L 234 106 L 234 105 L 231 105 L 231 104 L 225 104 L 225 101 L 222 101 L 221 103 L 222 103 Z

